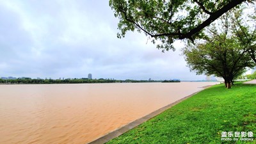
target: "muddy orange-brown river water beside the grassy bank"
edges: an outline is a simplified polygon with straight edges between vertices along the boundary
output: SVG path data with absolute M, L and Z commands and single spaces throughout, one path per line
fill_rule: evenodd
M 1 84 L 0 143 L 88 143 L 212 84 Z

